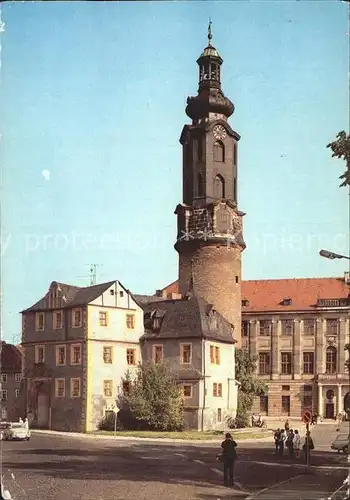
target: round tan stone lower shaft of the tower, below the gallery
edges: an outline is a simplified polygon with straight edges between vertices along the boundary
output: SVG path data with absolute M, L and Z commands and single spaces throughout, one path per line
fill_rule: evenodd
M 185 242 L 184 242 L 185 243 Z M 191 289 L 234 325 L 241 345 L 241 249 L 229 245 L 186 242 L 179 252 L 179 291 Z M 197 243 L 197 244 L 196 244 Z

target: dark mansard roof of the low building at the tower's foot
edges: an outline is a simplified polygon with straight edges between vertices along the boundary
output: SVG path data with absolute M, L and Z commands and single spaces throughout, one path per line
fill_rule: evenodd
M 231 324 L 200 297 L 149 302 L 144 306 L 144 315 L 144 340 L 203 338 L 229 344 L 236 342 Z M 157 330 L 152 329 L 151 316 L 160 317 Z

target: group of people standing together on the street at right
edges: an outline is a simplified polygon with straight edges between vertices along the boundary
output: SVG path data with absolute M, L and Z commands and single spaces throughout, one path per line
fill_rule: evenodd
M 303 451 L 306 463 L 310 463 L 310 452 L 315 449 L 310 431 L 307 431 L 305 441 L 301 448 L 301 437 L 297 429 L 289 427 L 289 421 L 284 424 L 284 429 L 277 429 L 274 435 L 275 455 L 283 457 L 284 449 L 287 448 L 290 458 L 300 457 L 300 449 Z

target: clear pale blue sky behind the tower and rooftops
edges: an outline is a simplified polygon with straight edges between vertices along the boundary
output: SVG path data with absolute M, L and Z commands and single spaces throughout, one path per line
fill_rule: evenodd
M 1 6 L 2 335 L 52 281 L 177 278 L 180 134 L 207 42 L 241 135 L 243 279 L 343 275 L 348 12 L 337 0 L 6 2 Z

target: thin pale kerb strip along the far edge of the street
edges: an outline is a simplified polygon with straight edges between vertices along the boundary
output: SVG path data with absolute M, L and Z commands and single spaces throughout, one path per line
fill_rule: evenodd
M 222 440 L 222 436 L 218 436 L 218 439 L 171 439 L 171 438 L 143 438 L 143 437 L 133 437 L 133 436 L 108 436 L 105 434 L 82 434 L 78 432 L 63 432 L 63 431 L 51 431 L 44 429 L 31 429 L 32 435 L 35 434 L 46 434 L 53 436 L 65 436 L 80 439 L 112 439 L 113 441 L 137 441 L 137 442 L 151 442 L 151 443 L 186 443 L 186 444 L 217 444 Z M 268 443 L 271 442 L 271 437 L 263 438 L 250 438 L 250 439 L 239 439 L 236 438 L 237 442 L 240 443 Z

